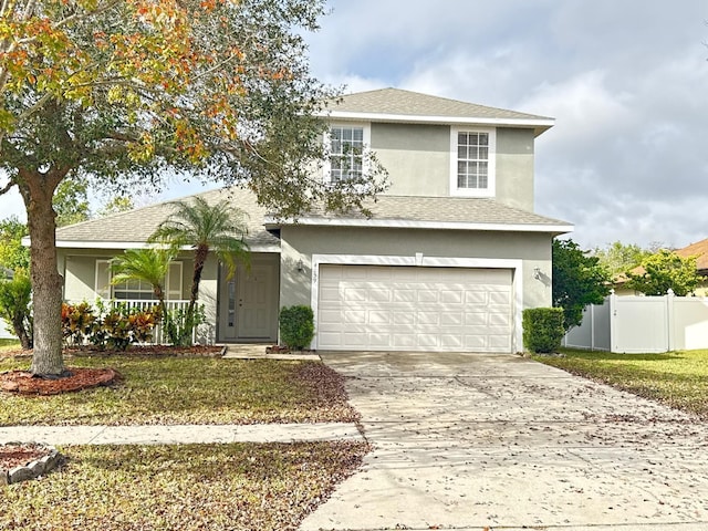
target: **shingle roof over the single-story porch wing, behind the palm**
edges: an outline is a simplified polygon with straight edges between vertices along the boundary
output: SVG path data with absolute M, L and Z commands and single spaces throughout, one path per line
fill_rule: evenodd
M 225 188 L 199 194 L 210 204 L 228 199 L 247 215 L 248 235 L 246 241 L 253 251 L 280 250 L 280 240 L 263 228 L 266 209 L 256 201 L 256 196 L 240 188 Z M 188 198 L 183 198 L 188 199 Z M 144 247 L 173 210 L 165 201 L 127 212 L 92 219 L 82 223 L 56 229 L 56 247 L 91 249 L 126 249 Z

